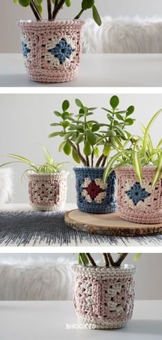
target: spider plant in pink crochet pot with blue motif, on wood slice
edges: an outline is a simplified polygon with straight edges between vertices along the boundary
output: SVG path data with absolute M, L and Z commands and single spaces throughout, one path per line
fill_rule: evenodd
M 121 149 L 109 161 L 104 182 L 115 170 L 117 175 L 118 212 L 124 220 L 135 223 L 162 223 L 162 139 L 154 148 L 150 128 L 162 110 L 150 120 L 143 136 L 133 148 Z

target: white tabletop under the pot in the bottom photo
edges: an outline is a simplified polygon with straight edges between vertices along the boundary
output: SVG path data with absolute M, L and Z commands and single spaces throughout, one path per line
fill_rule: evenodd
M 0 302 L 1 340 L 160 340 L 162 301 L 135 301 L 121 330 L 67 330 L 77 324 L 72 302 Z

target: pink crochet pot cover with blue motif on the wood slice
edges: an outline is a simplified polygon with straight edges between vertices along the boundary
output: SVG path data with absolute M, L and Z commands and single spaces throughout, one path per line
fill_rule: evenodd
M 155 169 L 155 166 L 143 166 L 142 183 L 132 166 L 115 170 L 118 212 L 124 220 L 146 224 L 162 222 L 162 179 L 152 189 Z

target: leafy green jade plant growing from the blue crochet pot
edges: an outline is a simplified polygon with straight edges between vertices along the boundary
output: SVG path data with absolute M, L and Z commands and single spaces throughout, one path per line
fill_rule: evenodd
M 62 142 L 59 151 L 65 152 L 68 156 L 72 153 L 76 163 L 104 167 L 111 150 L 120 149 L 123 143 L 126 146 L 128 141 L 131 141 L 132 136 L 127 129 L 135 122 L 135 119 L 130 117 L 135 111 L 134 106 L 131 105 L 124 111 L 119 110 L 117 95 L 113 95 L 110 105 L 111 109 L 102 108 L 107 119 L 102 123 L 93 119 L 96 107 L 87 107 L 76 99 L 78 113 L 71 113 L 70 103 L 65 100 L 62 102 L 62 111 L 54 111 L 59 121 L 51 124 L 57 131 L 51 133 L 49 137 L 60 136 Z M 101 117 L 100 111 L 98 115 Z

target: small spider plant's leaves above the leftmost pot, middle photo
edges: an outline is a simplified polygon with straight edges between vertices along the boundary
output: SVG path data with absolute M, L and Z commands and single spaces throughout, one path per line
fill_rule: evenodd
M 16 161 L 3 163 L 1 164 L 0 168 L 3 166 L 7 166 L 8 164 L 12 164 L 12 163 L 24 163 L 29 168 L 27 168 L 27 170 L 23 172 L 23 176 L 25 176 L 25 174 L 27 174 L 27 172 L 30 172 L 30 171 L 36 172 L 36 174 L 54 174 L 56 172 L 60 172 L 62 170 L 62 164 L 66 162 L 55 163 L 54 159 L 51 157 L 49 150 L 45 148 L 45 146 L 42 146 L 42 148 L 45 151 L 45 163 L 43 165 L 36 165 L 30 159 L 27 159 L 19 155 L 7 154 L 5 155 L 6 157 L 16 159 Z

